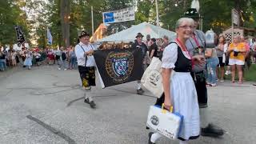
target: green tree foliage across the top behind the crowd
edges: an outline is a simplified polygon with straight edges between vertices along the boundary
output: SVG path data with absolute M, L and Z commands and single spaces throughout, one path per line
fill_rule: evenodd
M 27 40 L 37 40 L 39 47 L 46 47 L 46 29 L 53 35 L 53 46 L 65 46 L 62 37 L 61 2 L 64 0 L 0 0 L 0 44 L 16 42 L 14 26 L 22 26 Z M 137 3 L 135 21 L 110 24 L 107 34 L 121 31 L 141 22 L 156 24 L 155 2 L 151 0 L 66 0 L 70 2 L 70 44 L 77 42 L 81 30 L 91 31 L 91 6 L 94 7 L 94 30 L 102 23 L 102 12 L 120 10 Z M 158 0 L 159 21 L 162 27 L 174 30 L 192 0 Z M 241 10 L 241 26 L 256 27 L 255 0 L 200 0 L 203 30 L 212 28 L 216 33 L 231 26 L 231 10 Z M 40 9 L 38 9 L 38 6 Z M 8 7 L 8 9 L 6 9 Z M 25 11 L 26 7 L 26 11 Z M 30 18 L 26 14 L 30 14 Z M 35 13 L 35 14 L 34 14 Z M 31 15 L 33 16 L 31 18 Z

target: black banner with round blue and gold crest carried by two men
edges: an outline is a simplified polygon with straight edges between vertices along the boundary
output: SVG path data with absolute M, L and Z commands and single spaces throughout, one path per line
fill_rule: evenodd
M 114 86 L 142 78 L 141 49 L 96 50 L 94 59 L 104 83 Z

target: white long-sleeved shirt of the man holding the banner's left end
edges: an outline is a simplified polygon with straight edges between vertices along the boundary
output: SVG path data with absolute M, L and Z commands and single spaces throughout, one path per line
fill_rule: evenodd
M 84 51 L 82 50 L 82 48 Z M 89 50 L 96 50 L 96 49 L 90 43 L 85 45 L 82 42 L 79 42 L 79 44 L 74 47 L 74 53 L 78 59 L 78 66 L 85 66 L 85 64 L 88 67 L 96 66 L 93 55 L 92 56 L 87 55 L 87 60 L 86 60 L 85 52 L 87 52 Z

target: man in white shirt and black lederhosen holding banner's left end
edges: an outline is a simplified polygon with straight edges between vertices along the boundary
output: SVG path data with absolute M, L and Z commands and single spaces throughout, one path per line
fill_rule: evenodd
M 79 35 L 79 43 L 75 46 L 74 51 L 78 59 L 78 70 L 82 80 L 82 87 L 86 90 L 86 103 L 90 104 L 91 108 L 96 108 L 92 97 L 90 96 L 91 86 L 96 86 L 95 83 L 95 60 L 94 46 L 90 44 L 90 35 L 86 31 Z

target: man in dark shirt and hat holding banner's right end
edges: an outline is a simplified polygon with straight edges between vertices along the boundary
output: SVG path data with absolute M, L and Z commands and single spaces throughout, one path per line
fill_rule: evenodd
M 146 52 L 148 51 L 147 46 L 145 45 L 145 43 L 142 42 L 142 38 L 143 37 L 144 36 L 142 35 L 142 33 L 138 33 L 137 36 L 135 37 L 136 38 L 135 42 L 131 46 L 134 49 L 135 48 L 142 49 L 142 58 L 143 58 L 143 60 L 142 60 L 142 72 L 144 72 L 146 70 L 146 66 L 144 66 L 145 64 L 143 64 L 143 62 L 144 62 L 144 58 L 146 56 Z M 137 86 L 137 94 L 142 95 L 144 93 L 144 90 L 142 90 L 142 83 L 141 83 L 141 81 L 138 80 L 137 84 L 138 84 L 138 86 Z

